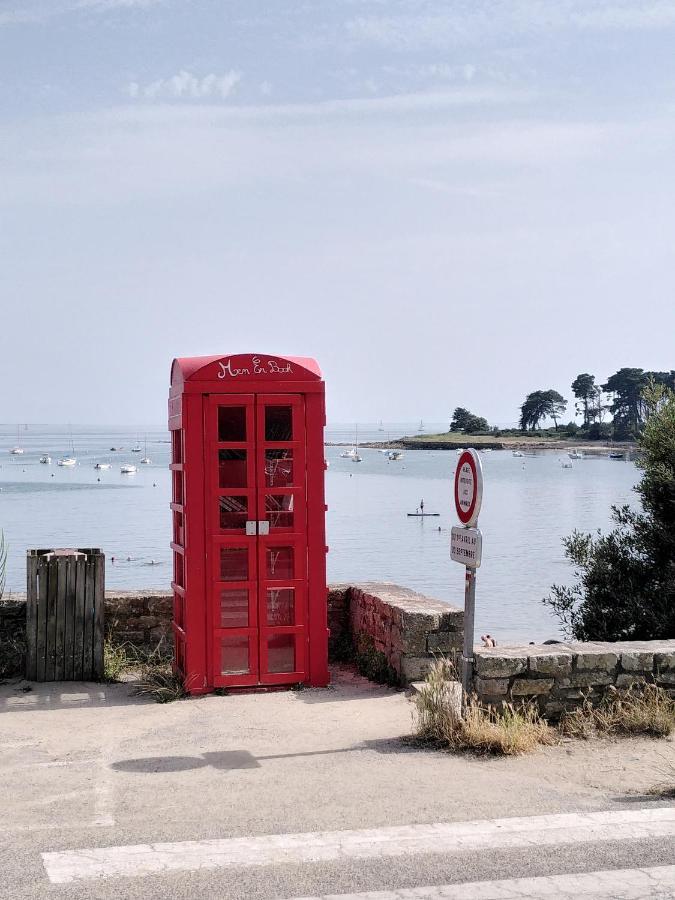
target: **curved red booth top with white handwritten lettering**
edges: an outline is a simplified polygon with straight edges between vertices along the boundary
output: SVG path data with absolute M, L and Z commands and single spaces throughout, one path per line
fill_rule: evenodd
M 315 359 L 269 353 L 237 353 L 233 356 L 184 356 L 171 366 L 171 394 L 205 390 L 206 382 L 220 389 L 256 382 L 321 382 Z M 290 385 L 289 385 L 290 387 Z

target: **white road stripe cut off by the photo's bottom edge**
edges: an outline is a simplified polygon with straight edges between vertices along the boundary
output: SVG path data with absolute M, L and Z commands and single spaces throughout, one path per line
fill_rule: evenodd
M 324 894 L 296 900 L 646 900 L 675 896 L 675 866 L 647 869 L 615 869 L 582 875 L 548 875 L 541 878 L 509 878 L 501 881 L 472 881 L 403 888 L 394 891 L 366 891 L 362 894 Z

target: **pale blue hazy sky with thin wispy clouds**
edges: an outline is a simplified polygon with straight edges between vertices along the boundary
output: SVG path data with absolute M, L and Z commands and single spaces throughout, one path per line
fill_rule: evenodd
M 334 422 L 675 368 L 675 0 L 0 0 L 0 421 L 315 357 Z M 571 405 L 571 404 L 570 404 Z

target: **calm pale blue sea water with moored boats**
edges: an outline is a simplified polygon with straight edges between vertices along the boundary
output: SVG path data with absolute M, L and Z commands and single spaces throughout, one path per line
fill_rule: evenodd
M 360 440 L 415 433 L 419 423 L 359 426 Z M 445 426 L 447 428 L 447 425 Z M 433 423 L 427 431 L 440 430 Z M 327 440 L 349 441 L 352 426 L 327 431 Z M 168 588 L 171 580 L 168 436 L 147 433 L 152 464 L 122 475 L 144 433 L 124 429 L 73 429 L 78 465 L 62 468 L 70 451 L 65 427 L 31 426 L 19 434 L 22 456 L 8 450 L 16 427 L 0 429 L 0 528 L 9 546 L 7 588 L 25 590 L 29 547 L 100 546 L 108 558 L 109 588 Z M 111 447 L 123 450 L 111 451 Z M 48 452 L 51 466 L 38 460 Z M 363 449 L 363 462 L 341 459 L 327 447 L 328 572 L 331 581 L 395 581 L 461 606 L 462 566 L 450 561 L 454 451 L 409 451 L 388 462 Z M 561 538 L 574 528 L 605 529 L 610 506 L 634 502 L 639 474 L 631 462 L 588 457 L 563 469 L 559 451 L 523 459 L 509 451 L 483 455 L 485 479 L 480 527 L 483 565 L 477 582 L 477 633 L 500 641 L 555 637 L 555 620 L 541 603 L 553 582 L 569 582 Z M 566 459 L 566 457 L 565 457 Z M 113 468 L 97 471 L 97 461 Z M 439 518 L 408 518 L 420 499 Z M 440 531 L 439 531 L 440 527 Z M 111 557 L 115 557 L 114 564 Z

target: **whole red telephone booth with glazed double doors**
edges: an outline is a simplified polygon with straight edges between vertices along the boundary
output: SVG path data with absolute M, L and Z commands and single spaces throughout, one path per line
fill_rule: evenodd
M 324 382 L 313 359 L 175 359 L 175 665 L 190 693 L 328 683 Z

